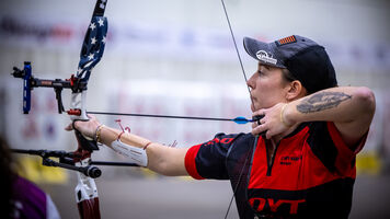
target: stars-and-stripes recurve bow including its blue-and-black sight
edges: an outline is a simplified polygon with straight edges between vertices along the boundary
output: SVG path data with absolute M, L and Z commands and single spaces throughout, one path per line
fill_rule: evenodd
M 87 116 L 87 84 L 92 69 L 101 60 L 105 47 L 105 38 L 107 33 L 107 19 L 104 18 L 106 0 L 97 0 L 91 18 L 91 23 L 87 30 L 84 42 L 80 51 L 79 69 L 76 77 L 72 74 L 70 79 L 61 80 L 42 80 L 32 76 L 32 67 L 30 62 L 24 64 L 23 70 L 14 68 L 13 76 L 23 79 L 23 113 L 28 114 L 31 110 L 31 91 L 33 88 L 54 88 L 58 103 L 58 113 L 65 112 L 61 99 L 64 89 L 71 89 L 70 110 L 67 112 L 72 122 L 88 120 Z M 57 165 L 56 162 L 48 158 L 44 158 L 44 162 L 51 166 L 67 166 L 71 170 L 88 172 L 91 166 L 91 154 L 93 150 L 99 150 L 96 141 L 85 139 L 80 131 L 74 130 L 78 142 L 77 150 L 72 153 L 71 164 Z M 45 163 L 44 163 L 45 164 Z M 74 188 L 76 199 L 78 201 L 79 214 L 82 219 L 100 219 L 97 188 L 94 180 L 84 174 L 78 173 L 78 185 Z M 99 174 L 100 175 L 100 174 Z

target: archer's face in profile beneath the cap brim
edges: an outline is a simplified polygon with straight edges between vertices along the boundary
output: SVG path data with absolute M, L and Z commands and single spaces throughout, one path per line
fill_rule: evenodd
M 286 102 L 288 83 L 280 68 L 259 64 L 257 71 L 248 80 L 248 85 L 254 104 L 251 105 L 252 112 Z

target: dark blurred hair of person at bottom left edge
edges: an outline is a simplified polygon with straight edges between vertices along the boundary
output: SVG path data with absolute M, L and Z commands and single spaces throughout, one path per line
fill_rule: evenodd
M 0 197 L 0 206 L 2 208 L 0 218 L 9 218 L 13 211 L 13 206 L 11 199 L 12 193 L 12 182 L 15 178 L 15 174 L 12 170 L 13 159 L 11 157 L 10 148 L 3 137 L 0 136 L 0 186 L 2 189 Z

